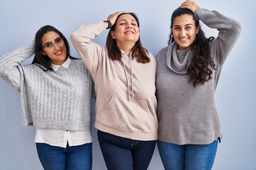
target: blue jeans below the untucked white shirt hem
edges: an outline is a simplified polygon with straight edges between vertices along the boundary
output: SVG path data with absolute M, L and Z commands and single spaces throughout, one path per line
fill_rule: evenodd
M 36 143 L 36 149 L 45 170 L 92 169 L 92 143 L 66 148 Z

